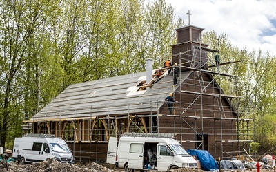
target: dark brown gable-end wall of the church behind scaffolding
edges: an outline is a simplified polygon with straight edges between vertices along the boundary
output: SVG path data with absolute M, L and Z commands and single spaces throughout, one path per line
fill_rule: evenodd
M 208 74 L 203 73 L 202 77 L 204 85 L 208 85 L 212 80 Z M 188 78 L 186 83 L 181 84 L 181 90 L 201 92 L 196 72 Z M 206 94 L 219 94 L 219 88 L 215 83 L 209 84 L 205 90 Z M 226 98 L 221 98 L 220 101 L 217 96 L 176 92 L 175 100 L 179 102 L 181 100 L 181 105 L 175 103 L 175 117 L 166 116 L 168 115 L 166 104 L 159 111 L 160 114 L 163 114 L 163 116 L 159 116 L 160 133 L 177 133 L 177 140 L 183 142 L 185 149 L 197 149 L 198 144 L 195 143 L 197 133 L 206 135 L 207 140 L 205 140 L 204 147 L 214 158 L 221 156 L 222 152 L 237 151 L 237 142 L 228 142 L 228 140 L 237 140 L 237 131 L 236 120 L 231 120 L 236 116 Z M 223 110 L 220 109 L 219 103 L 222 103 Z M 224 119 L 221 120 L 220 117 Z M 223 142 L 222 148 L 221 140 L 226 140 Z M 229 155 L 224 153 L 224 156 Z

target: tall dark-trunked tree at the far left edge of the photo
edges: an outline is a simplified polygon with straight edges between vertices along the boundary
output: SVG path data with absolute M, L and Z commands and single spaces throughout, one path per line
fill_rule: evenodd
M 34 89 L 32 72 L 38 65 L 36 33 L 50 17 L 55 1 L 6 1 L 1 6 L 1 116 L 0 144 L 5 146 L 8 133 L 17 135 L 22 118 L 28 118 L 30 109 L 37 109 L 32 101 L 38 92 Z M 29 93 L 30 92 L 30 93 Z M 32 94 L 32 95 L 31 95 Z M 35 98 L 37 102 L 37 98 Z M 12 138 L 12 136 L 10 136 Z

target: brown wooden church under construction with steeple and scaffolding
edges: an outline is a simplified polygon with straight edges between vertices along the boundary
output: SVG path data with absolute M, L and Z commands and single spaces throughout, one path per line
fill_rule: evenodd
M 211 54 L 218 50 L 201 43 L 203 28 L 177 28 L 172 64 L 180 68 L 177 85 L 166 68 L 157 77 L 152 60 L 146 72 L 70 85 L 30 120 L 32 133 L 55 134 L 66 142 L 76 161 L 106 160 L 108 139 L 123 133 L 174 133 L 184 149 L 204 149 L 214 158 L 242 155 L 252 140 L 250 118 L 241 118 L 239 95 L 229 95 Z M 209 70 L 217 67 L 217 70 Z M 217 72 L 216 72 L 217 71 Z M 166 96 L 175 101 L 169 114 Z

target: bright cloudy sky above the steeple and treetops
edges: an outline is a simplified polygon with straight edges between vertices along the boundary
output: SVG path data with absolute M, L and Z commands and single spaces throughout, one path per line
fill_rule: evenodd
M 276 55 L 276 0 L 165 0 L 190 25 L 226 33 L 231 44 Z

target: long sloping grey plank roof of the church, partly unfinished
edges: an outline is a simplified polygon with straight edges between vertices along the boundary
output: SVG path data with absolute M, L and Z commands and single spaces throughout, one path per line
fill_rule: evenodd
M 155 112 L 172 92 L 172 74 L 150 87 L 143 85 L 145 81 L 146 72 L 140 72 L 70 85 L 28 122 Z

